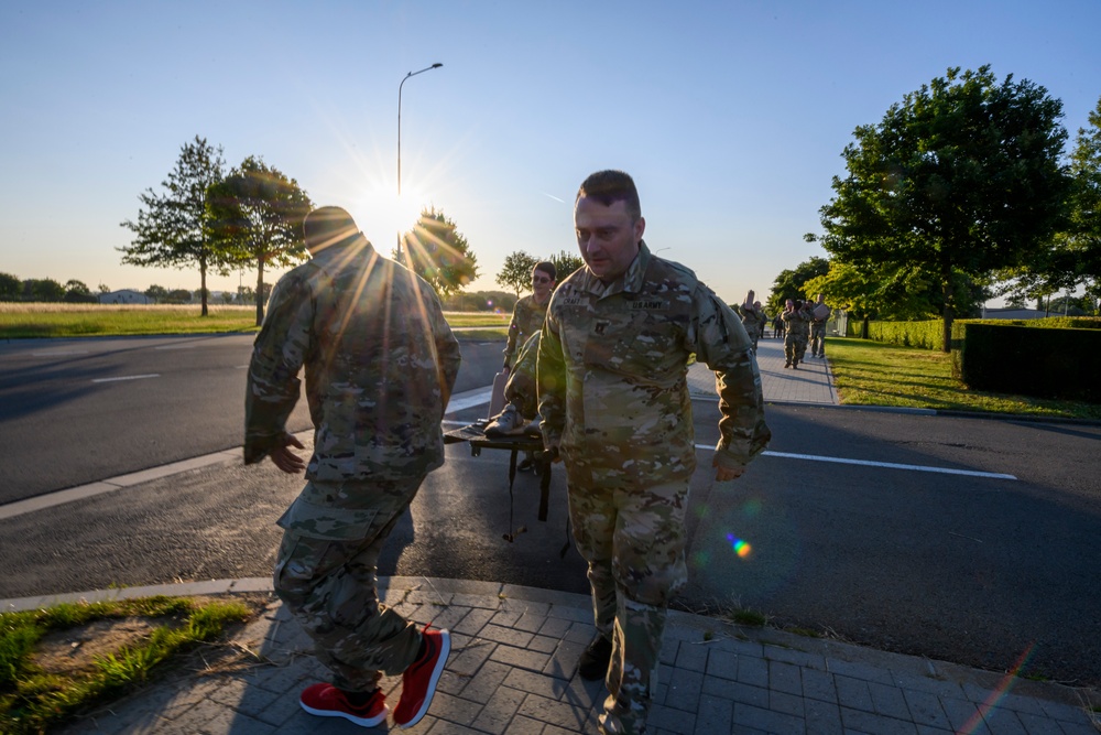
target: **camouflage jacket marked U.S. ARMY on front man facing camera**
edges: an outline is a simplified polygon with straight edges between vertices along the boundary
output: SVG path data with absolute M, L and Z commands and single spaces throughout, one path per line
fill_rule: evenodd
M 751 344 L 727 304 L 645 242 L 612 283 L 582 268 L 555 290 L 543 327 L 544 441 L 567 460 L 641 479 L 687 477 L 696 466 L 686 380 L 695 353 L 716 372 L 719 462 L 745 465 L 771 437 Z

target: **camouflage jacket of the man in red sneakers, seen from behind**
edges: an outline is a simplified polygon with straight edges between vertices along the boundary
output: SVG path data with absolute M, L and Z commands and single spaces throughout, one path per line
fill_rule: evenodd
M 315 429 L 306 479 L 423 475 L 444 462 L 439 422 L 459 359 L 432 287 L 362 236 L 328 248 L 272 291 L 249 366 L 244 461 L 260 462 L 284 435 L 305 366 Z

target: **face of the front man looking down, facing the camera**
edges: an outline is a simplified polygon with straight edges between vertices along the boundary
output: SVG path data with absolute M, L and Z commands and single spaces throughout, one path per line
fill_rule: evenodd
M 645 229 L 646 220 L 643 217 L 633 219 L 622 201 L 604 206 L 582 196 L 574 207 L 577 248 L 589 271 L 604 282 L 626 272 L 639 255 L 639 242 Z

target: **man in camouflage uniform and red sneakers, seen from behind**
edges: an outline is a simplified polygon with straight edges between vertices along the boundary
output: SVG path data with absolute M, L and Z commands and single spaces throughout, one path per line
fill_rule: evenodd
M 419 684 L 411 675 L 424 673 L 417 667 L 434 647 L 443 658 L 430 663 L 442 670 L 449 644 L 446 631 L 418 629 L 379 603 L 375 564 L 425 475 L 444 462 L 439 424 L 459 346 L 432 288 L 379 256 L 347 212 L 323 207 L 303 229 L 312 259 L 280 279 L 255 339 L 244 461 L 305 469 L 306 486 L 277 521 L 274 585 L 335 688 L 305 690 L 303 707 L 377 724 L 386 713 L 382 672 L 404 671 L 394 720 L 407 725 L 435 689 L 412 692 Z M 285 428 L 303 367 L 315 428 L 308 465 Z

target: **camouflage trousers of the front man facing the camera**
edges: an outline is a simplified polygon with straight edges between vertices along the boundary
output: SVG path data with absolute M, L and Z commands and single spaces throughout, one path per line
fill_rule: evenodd
M 588 562 L 597 631 L 612 641 L 602 733 L 645 733 L 669 598 L 688 580 L 688 478 L 643 484 L 567 463 L 569 517 Z

